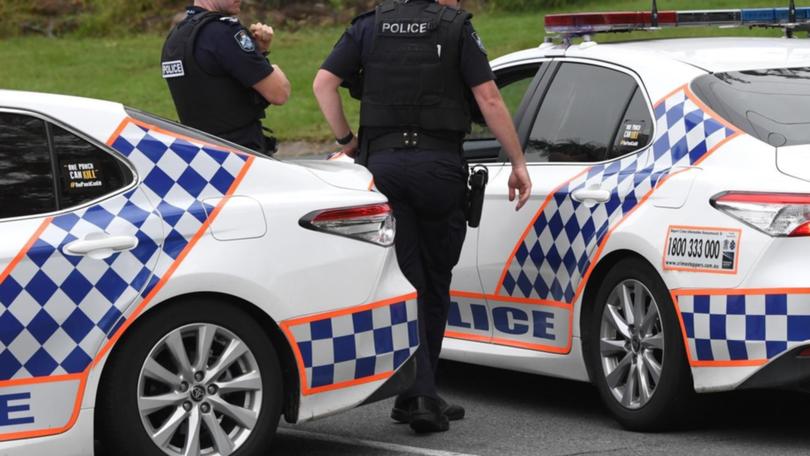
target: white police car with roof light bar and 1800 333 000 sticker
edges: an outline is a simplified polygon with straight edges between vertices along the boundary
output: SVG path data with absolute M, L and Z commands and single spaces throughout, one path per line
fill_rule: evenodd
M 656 13 L 546 26 L 792 31 L 810 18 Z M 637 430 L 671 424 L 694 391 L 810 386 L 810 43 L 586 39 L 492 65 L 534 193 L 515 212 L 509 162 L 476 128 L 465 152 L 490 182 L 443 356 L 591 381 Z

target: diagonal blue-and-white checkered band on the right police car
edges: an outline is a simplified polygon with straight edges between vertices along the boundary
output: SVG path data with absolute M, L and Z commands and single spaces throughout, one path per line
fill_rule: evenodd
M 503 280 L 510 296 L 571 303 L 598 246 L 609 231 L 676 166 L 689 166 L 735 134 L 681 90 L 655 109 L 652 147 L 591 167 L 566 183 L 521 240 Z M 587 188 L 610 189 L 610 200 L 594 207 L 571 194 Z

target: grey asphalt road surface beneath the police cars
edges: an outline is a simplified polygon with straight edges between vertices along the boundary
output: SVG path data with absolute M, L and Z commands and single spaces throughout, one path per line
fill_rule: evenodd
M 744 392 L 704 399 L 686 430 L 622 430 L 588 384 L 459 363 L 442 365 L 443 395 L 467 418 L 413 434 L 388 418 L 393 400 L 315 422 L 283 424 L 278 455 L 807 455 L 810 396 Z

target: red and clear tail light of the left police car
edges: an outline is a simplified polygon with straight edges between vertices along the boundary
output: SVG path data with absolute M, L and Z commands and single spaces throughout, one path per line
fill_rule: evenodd
M 390 247 L 396 235 L 396 223 L 388 204 L 325 209 L 311 212 L 299 222 L 324 233 Z

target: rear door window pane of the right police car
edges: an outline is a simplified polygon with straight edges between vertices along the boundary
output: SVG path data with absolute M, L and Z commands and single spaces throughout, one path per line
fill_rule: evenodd
M 527 161 L 605 160 L 619 129 L 627 128 L 621 123 L 636 88 L 635 79 L 625 73 L 595 65 L 562 63 L 535 118 L 526 148 Z

